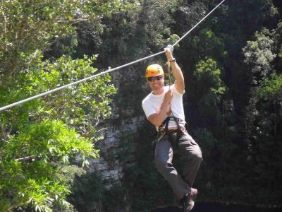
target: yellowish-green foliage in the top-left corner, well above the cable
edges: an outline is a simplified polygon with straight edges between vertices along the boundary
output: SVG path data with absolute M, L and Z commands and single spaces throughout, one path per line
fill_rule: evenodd
M 99 22 L 103 16 L 132 6 L 128 1 L 2 1 L 0 16 L 0 76 L 25 69 L 49 48 L 52 42 L 75 37 L 76 23 Z M 37 54 L 33 54 L 39 49 Z M 68 49 L 70 50 L 70 49 Z M 4 81 L 2 80 L 2 83 Z

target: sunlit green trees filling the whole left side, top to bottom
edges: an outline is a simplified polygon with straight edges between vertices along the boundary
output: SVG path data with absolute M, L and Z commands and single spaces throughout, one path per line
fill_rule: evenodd
M 56 59 L 44 53 L 58 40 L 75 40 L 75 24 L 99 22 L 130 5 L 118 0 L 1 1 L 1 106 L 93 75 L 96 57 Z M 64 53 L 74 45 L 65 45 Z M 27 204 L 51 211 L 54 204 L 67 204 L 69 185 L 58 176 L 71 161 L 85 166 L 98 156 L 97 124 L 111 114 L 116 93 L 110 79 L 100 76 L 1 112 L 1 211 Z

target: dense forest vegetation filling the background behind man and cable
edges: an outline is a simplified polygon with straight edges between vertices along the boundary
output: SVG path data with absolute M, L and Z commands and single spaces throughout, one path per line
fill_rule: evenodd
M 0 3 L 0 106 L 160 52 L 219 1 L 16 0 Z M 282 1 L 226 0 L 174 50 L 185 116 L 204 161 L 197 201 L 281 207 Z M 0 112 L 0 211 L 149 211 L 173 203 L 143 117 L 146 66 L 164 55 Z M 123 164 L 106 187 L 90 158 Z M 181 164 L 179 164 L 181 165 Z

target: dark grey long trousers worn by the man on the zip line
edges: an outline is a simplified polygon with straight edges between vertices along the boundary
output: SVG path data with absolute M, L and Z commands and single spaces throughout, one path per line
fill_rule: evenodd
M 195 181 L 197 171 L 202 163 L 202 151 L 188 132 L 180 136 L 178 142 L 176 137 L 176 132 L 173 132 L 170 136 L 163 136 L 157 142 L 154 162 L 157 170 L 168 181 L 177 198 L 182 199 L 185 194 L 190 192 Z M 180 153 L 180 157 L 184 160 L 185 164 L 181 173 L 178 173 L 173 167 L 173 151 Z

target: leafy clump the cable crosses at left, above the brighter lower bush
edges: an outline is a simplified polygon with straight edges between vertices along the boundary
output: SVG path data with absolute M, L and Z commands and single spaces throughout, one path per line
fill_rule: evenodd
M 22 98 L 43 93 L 52 88 L 92 76 L 97 71 L 91 64 L 95 57 L 71 59 L 61 57 L 53 63 L 38 61 L 27 73 L 20 73 L 16 81 L 1 91 L 2 104 L 8 105 Z M 70 86 L 54 95 L 46 95 L 39 100 L 27 102 L 1 114 L 7 129 L 13 125 L 27 124 L 42 117 L 61 119 L 84 136 L 93 136 L 95 126 L 111 114 L 111 95 L 116 93 L 109 84 L 109 75 L 100 76 L 76 86 Z M 71 98 L 70 98 L 71 97 Z M 3 135 L 4 136 L 4 135 Z

